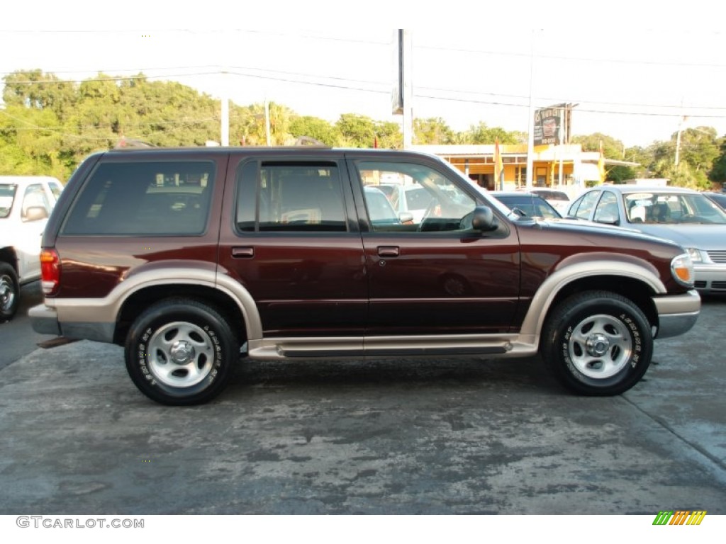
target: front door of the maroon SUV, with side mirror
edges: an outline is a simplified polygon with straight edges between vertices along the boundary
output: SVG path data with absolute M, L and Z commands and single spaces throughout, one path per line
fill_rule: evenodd
M 465 180 L 454 181 L 455 174 L 435 160 L 346 156 L 370 285 L 367 335 L 507 331 L 520 287 L 515 229 L 505 222 L 491 233 L 467 226 L 477 204 L 476 189 L 465 189 Z M 428 191 L 431 203 L 420 223 L 376 225 L 367 220 L 364 186 L 392 177 Z

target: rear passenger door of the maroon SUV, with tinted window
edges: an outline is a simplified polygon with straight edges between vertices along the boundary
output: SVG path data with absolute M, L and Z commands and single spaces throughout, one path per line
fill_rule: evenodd
M 336 157 L 230 159 L 219 265 L 252 295 L 265 337 L 362 337 L 363 247 Z

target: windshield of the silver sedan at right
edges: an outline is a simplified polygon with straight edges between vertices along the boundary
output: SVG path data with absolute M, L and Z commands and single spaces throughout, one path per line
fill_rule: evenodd
M 703 194 L 630 193 L 624 204 L 630 223 L 726 225 L 726 213 Z

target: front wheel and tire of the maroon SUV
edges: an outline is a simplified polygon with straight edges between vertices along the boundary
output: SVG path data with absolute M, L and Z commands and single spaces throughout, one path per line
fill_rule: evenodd
M 576 294 L 552 312 L 544 326 L 542 358 L 569 390 L 619 395 L 650 365 L 653 334 L 637 306 L 619 294 Z

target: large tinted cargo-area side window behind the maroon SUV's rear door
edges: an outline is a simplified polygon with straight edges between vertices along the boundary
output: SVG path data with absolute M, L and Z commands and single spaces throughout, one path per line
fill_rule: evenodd
M 62 234 L 203 234 L 213 180 L 211 161 L 103 163 L 76 197 Z

